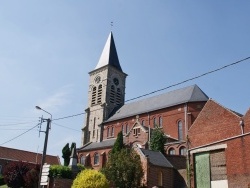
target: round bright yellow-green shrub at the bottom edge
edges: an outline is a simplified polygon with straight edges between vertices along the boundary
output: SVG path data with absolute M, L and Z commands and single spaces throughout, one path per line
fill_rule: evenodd
M 108 188 L 106 177 L 96 170 L 86 169 L 81 171 L 73 181 L 71 188 Z

